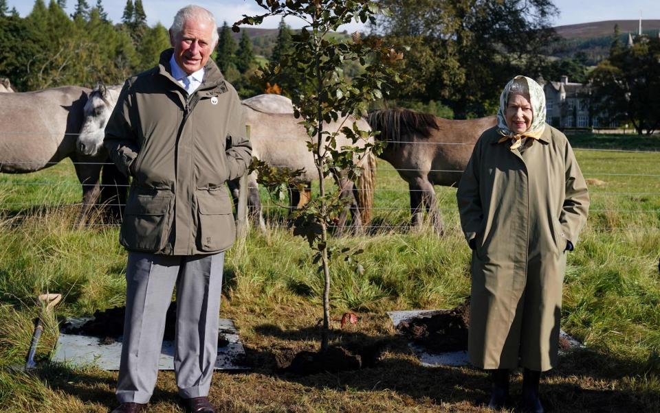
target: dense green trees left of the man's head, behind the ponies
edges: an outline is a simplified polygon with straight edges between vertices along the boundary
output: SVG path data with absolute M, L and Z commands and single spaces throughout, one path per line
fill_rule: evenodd
M 21 18 L 0 0 L 0 76 L 19 91 L 98 81 L 119 84 L 152 67 L 169 47 L 167 29 L 146 25 L 142 0 L 126 1 L 122 22 L 109 21 L 102 1 L 77 0 L 67 15 L 65 0 L 34 1 Z

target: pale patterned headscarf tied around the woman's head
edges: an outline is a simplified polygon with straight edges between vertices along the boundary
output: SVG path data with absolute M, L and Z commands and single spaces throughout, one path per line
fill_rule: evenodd
M 523 79 L 527 82 L 527 88 L 529 88 L 529 103 L 531 104 L 532 118 L 531 126 L 529 129 L 522 134 L 516 134 L 509 130 L 506 119 L 507 104 L 509 103 L 509 95 L 511 91 L 511 85 L 514 84 L 515 80 Z M 500 108 L 497 111 L 497 130 L 503 135 L 503 138 L 500 139 L 500 142 L 507 141 L 511 139 L 511 150 L 516 149 L 520 146 L 520 139 L 522 138 L 532 138 L 538 139 L 545 130 L 545 93 L 543 93 L 543 88 L 540 84 L 536 83 L 533 79 L 527 78 L 527 76 L 518 75 L 515 78 L 509 80 L 507 86 L 504 86 L 504 90 L 500 95 Z

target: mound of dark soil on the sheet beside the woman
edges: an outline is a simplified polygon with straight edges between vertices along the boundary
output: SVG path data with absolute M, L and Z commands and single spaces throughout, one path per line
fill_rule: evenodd
M 401 321 L 397 330 L 430 353 L 467 351 L 470 305 L 436 311 L 430 317 Z

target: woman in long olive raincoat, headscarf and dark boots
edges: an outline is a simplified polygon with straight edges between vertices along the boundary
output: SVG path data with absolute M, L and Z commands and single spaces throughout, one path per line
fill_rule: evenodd
M 470 361 L 491 370 L 494 409 L 507 401 L 509 370 L 522 366 L 525 411 L 543 412 L 538 384 L 557 365 L 566 251 L 588 212 L 571 145 L 545 112 L 538 83 L 511 80 L 456 193 L 472 248 Z

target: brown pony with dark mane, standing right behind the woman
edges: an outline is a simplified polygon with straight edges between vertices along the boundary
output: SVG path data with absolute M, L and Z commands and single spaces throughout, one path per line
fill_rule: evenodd
M 449 120 L 408 109 L 377 110 L 369 125 L 379 130 L 377 140 L 387 145 L 380 158 L 391 163 L 410 188 L 412 225 L 422 222 L 423 207 L 435 231 L 443 232 L 433 185 L 457 185 L 472 154 L 474 143 L 496 117 Z

